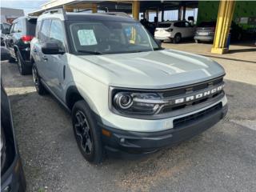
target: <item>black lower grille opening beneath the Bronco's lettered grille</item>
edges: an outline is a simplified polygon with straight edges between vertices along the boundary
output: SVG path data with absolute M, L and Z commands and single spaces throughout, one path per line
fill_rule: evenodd
M 216 111 L 221 110 L 221 109 L 222 109 L 222 102 L 220 102 L 217 105 L 212 106 L 206 110 L 202 110 L 196 114 L 190 114 L 183 118 L 174 119 L 174 129 L 177 129 L 181 126 L 186 126 L 186 125 L 196 122 L 202 118 L 206 118 L 210 114 L 214 114 Z

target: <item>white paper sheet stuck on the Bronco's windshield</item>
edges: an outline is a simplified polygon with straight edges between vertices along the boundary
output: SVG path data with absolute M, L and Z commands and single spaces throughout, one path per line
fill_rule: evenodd
M 78 30 L 78 39 L 81 46 L 97 45 L 94 30 Z

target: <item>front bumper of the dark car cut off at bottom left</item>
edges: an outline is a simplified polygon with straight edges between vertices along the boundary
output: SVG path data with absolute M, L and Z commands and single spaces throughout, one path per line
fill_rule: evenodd
M 2 192 L 26 191 L 26 179 L 22 169 L 21 158 L 17 155 L 14 162 L 1 177 Z

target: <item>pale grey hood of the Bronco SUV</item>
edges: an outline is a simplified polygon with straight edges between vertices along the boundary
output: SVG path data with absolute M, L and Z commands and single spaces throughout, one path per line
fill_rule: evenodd
M 79 62 L 79 70 L 109 86 L 165 89 L 225 74 L 222 66 L 210 58 L 178 50 L 76 57 L 84 63 Z

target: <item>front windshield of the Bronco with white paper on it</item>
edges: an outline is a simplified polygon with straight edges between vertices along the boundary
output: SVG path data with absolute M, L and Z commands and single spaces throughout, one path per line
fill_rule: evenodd
M 139 22 L 72 22 L 74 50 L 83 54 L 118 54 L 159 50 Z

